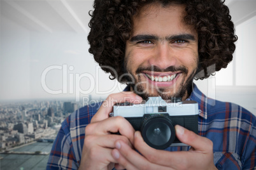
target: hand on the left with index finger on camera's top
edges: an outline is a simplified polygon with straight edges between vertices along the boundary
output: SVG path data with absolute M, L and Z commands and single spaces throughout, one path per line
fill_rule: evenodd
M 85 128 L 85 141 L 83 144 L 82 159 L 79 169 L 124 169 L 118 163 L 111 151 L 115 148 L 115 141 L 122 141 L 132 149 L 134 142 L 134 129 L 124 117 L 109 117 L 115 103 L 129 101 L 140 103 L 142 98 L 131 92 L 116 93 L 108 96 L 92 117 Z M 118 134 L 111 134 L 119 132 Z

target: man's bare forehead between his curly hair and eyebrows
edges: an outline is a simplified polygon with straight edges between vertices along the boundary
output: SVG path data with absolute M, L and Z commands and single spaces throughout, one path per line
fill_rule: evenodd
M 132 35 L 144 33 L 164 36 L 181 32 L 196 35 L 196 30 L 185 23 L 185 15 L 187 13 L 184 5 L 172 4 L 165 7 L 160 4 L 145 5 L 132 18 Z

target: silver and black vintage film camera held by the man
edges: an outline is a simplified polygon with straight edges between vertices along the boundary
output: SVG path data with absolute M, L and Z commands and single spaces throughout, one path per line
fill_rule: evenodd
M 159 97 L 149 97 L 140 104 L 117 103 L 110 116 L 122 116 L 141 131 L 143 140 L 156 149 L 187 146 L 175 135 L 176 124 L 198 133 L 198 103 L 196 101 L 165 101 Z

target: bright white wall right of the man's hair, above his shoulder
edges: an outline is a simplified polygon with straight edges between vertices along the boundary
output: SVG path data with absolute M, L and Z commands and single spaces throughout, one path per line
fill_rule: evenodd
M 233 61 L 215 77 L 196 84 L 211 98 L 237 103 L 256 115 L 255 30 L 256 16 L 236 26 L 238 42 Z

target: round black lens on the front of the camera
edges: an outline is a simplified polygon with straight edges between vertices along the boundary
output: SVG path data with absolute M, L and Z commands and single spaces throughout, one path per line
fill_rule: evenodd
M 146 117 L 141 124 L 144 141 L 153 148 L 164 149 L 173 143 L 175 131 L 169 117 L 154 114 Z

